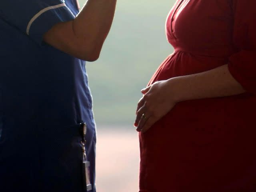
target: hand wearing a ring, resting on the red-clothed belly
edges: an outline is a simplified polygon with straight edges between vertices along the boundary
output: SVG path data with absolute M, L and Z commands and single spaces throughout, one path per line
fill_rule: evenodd
M 166 115 L 176 104 L 171 79 L 155 82 L 141 90 L 134 126 L 138 132 L 146 132 L 155 122 Z

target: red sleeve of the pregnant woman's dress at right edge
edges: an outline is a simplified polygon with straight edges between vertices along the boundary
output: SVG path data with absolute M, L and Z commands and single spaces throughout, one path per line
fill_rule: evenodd
M 238 51 L 230 56 L 228 68 L 247 92 L 256 94 L 256 0 L 232 0 L 232 9 Z

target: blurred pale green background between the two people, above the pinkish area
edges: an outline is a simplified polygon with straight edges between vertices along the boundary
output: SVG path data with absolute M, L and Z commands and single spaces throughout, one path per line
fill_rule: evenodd
M 174 2 L 118 0 L 100 58 L 86 65 L 98 125 L 133 124 L 140 90 L 173 51 L 165 20 Z

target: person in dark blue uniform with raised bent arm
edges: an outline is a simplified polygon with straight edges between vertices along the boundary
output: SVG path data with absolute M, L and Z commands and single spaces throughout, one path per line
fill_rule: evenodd
M 115 5 L 88 0 L 78 14 L 76 0 L 1 0 L 1 192 L 95 192 L 84 60 L 98 58 Z

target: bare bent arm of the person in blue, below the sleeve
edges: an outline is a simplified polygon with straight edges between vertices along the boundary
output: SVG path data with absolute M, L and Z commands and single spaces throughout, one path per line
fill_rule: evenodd
M 44 34 L 44 41 L 82 60 L 98 59 L 110 30 L 116 0 L 88 0 L 74 20 L 59 22 Z

